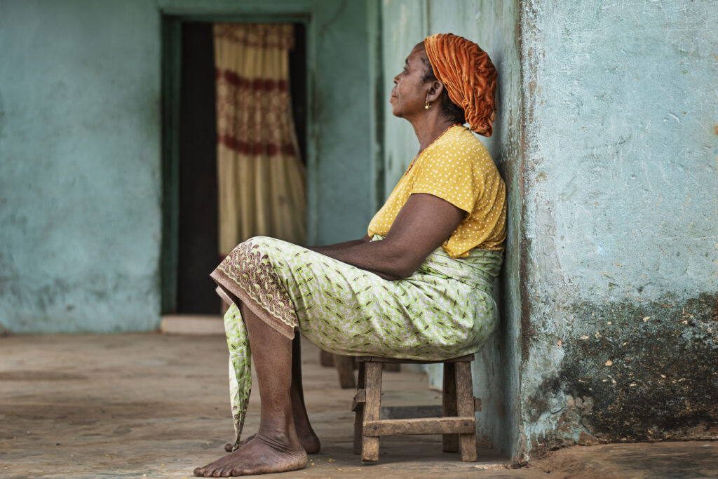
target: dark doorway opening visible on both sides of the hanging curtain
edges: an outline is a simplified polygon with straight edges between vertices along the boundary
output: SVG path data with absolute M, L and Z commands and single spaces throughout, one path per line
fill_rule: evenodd
M 302 161 L 307 158 L 306 27 L 295 24 L 289 53 L 292 111 Z M 217 131 L 212 24 L 182 22 L 179 123 L 177 304 L 174 312 L 217 315 L 210 272 L 218 248 Z M 169 311 L 167 311 L 169 312 Z

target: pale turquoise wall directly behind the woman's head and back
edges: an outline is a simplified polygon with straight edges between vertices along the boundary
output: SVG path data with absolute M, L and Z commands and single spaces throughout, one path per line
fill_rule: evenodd
M 498 116 L 491 138 L 479 136 L 507 182 L 510 213 L 505 266 L 500 278 L 500 327 L 472 366 L 475 394 L 483 401 L 477 414 L 480 439 L 506 455 L 518 454 L 520 296 L 518 233 L 521 216 L 521 67 L 518 55 L 518 3 L 499 0 L 384 0 L 384 159 L 385 195 L 393 189 L 419 149 L 408 121 L 394 118 L 388 103 L 392 78 L 404 67 L 411 48 L 434 33 L 462 35 L 486 50 L 498 70 Z M 440 365 L 427 367 L 429 381 L 441 387 Z

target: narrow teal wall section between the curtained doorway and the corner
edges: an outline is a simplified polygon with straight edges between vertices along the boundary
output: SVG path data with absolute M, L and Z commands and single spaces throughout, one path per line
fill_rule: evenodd
M 312 11 L 317 151 L 309 243 L 330 244 L 364 236 L 376 213 L 374 79 L 367 2 L 315 0 Z

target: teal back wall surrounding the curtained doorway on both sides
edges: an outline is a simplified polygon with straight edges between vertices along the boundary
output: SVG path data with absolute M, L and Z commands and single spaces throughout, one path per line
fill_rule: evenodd
M 0 0 L 0 12 L 0 327 L 159 325 L 163 13 L 309 15 L 309 240 L 365 234 L 365 2 Z

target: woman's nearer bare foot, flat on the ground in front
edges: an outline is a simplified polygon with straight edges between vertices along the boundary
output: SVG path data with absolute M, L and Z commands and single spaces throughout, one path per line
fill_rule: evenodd
M 307 465 L 307 452 L 301 445 L 290 445 L 284 434 L 274 437 L 255 435 L 239 450 L 220 460 L 195 469 L 205 478 L 228 478 L 236 475 L 283 473 Z

